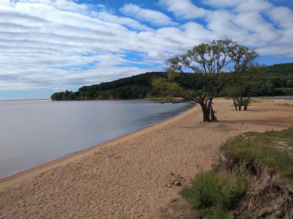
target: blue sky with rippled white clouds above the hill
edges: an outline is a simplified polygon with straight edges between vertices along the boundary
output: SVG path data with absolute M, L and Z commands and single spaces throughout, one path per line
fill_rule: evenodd
M 213 39 L 293 62 L 292 0 L 0 0 L 0 100 L 145 72 Z

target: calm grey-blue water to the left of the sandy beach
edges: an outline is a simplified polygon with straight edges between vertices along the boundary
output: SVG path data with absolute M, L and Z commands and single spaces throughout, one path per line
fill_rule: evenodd
M 0 178 L 178 115 L 194 103 L 149 100 L 0 102 Z

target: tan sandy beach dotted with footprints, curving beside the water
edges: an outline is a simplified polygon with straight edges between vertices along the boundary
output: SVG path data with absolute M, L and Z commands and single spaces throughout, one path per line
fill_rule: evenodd
M 0 180 L 0 218 L 171 218 L 184 205 L 182 183 L 211 168 L 226 138 L 293 126 L 289 100 L 263 100 L 236 112 L 214 100 L 218 122 L 194 107 L 172 119 Z M 170 173 L 173 173 L 171 175 Z M 180 207 L 182 210 L 183 208 Z M 182 210 L 183 211 L 183 210 Z M 177 216 L 176 216 L 177 217 Z

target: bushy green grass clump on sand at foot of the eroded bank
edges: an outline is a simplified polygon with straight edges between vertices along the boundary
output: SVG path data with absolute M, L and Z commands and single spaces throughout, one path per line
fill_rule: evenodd
M 191 188 L 184 186 L 181 191 L 182 197 L 191 206 L 202 214 L 209 212 L 208 218 L 231 218 L 229 210 L 236 208 L 247 180 L 244 174 L 202 171 L 195 175 L 191 183 Z

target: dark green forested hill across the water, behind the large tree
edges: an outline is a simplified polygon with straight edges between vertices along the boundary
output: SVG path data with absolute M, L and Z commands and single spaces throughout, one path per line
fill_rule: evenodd
M 164 77 L 165 72 L 147 72 L 111 82 L 83 86 L 76 92 L 65 91 L 52 94 L 52 100 L 114 100 L 145 98 L 151 91 L 151 79 Z M 189 74 L 193 86 L 202 88 L 197 74 Z M 180 81 L 179 81 L 180 82 Z M 185 86 L 182 84 L 182 86 Z M 268 66 L 263 76 L 260 96 L 293 95 L 293 63 Z

